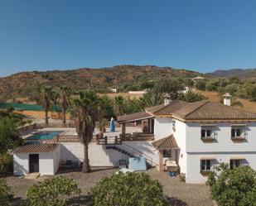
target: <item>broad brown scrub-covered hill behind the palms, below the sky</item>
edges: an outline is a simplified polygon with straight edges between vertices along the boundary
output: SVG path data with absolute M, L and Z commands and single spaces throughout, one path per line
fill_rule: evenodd
M 97 91 L 111 87 L 128 89 L 129 85 L 142 83 L 144 80 L 157 80 L 165 77 L 191 78 L 198 72 L 171 67 L 152 65 L 118 65 L 103 69 L 32 71 L 12 74 L 0 78 L 0 101 L 7 98 L 34 98 L 43 85 L 53 87 L 67 85 L 73 91 L 94 88 Z

